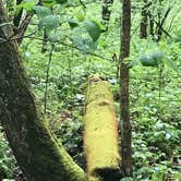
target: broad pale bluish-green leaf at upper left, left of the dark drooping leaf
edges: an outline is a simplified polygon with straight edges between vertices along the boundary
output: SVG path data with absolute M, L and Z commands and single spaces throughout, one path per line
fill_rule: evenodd
M 50 32 L 58 27 L 60 24 L 60 17 L 58 15 L 47 15 L 39 21 L 38 27 L 46 27 L 47 32 Z

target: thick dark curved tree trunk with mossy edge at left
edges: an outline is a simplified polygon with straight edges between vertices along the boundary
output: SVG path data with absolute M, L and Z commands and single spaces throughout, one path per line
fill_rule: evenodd
M 0 1 L 0 24 L 7 23 Z M 1 25 L 0 39 L 12 27 Z M 35 104 L 16 43 L 0 43 L 0 121 L 10 146 L 28 181 L 85 181 L 84 171 L 72 160 L 47 126 Z

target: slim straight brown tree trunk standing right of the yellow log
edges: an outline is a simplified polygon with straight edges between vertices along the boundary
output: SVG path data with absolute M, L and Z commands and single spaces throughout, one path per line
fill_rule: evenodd
M 121 144 L 122 144 L 122 171 L 123 176 L 132 174 L 131 156 L 131 123 L 129 106 L 129 68 L 125 58 L 130 55 L 131 32 L 131 0 L 123 0 L 122 4 L 122 31 L 120 56 L 120 88 L 121 88 Z

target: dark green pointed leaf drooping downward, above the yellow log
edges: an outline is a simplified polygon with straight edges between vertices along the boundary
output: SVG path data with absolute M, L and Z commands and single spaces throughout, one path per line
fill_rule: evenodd
M 85 27 L 94 41 L 96 41 L 102 33 L 100 25 L 96 21 L 85 21 Z

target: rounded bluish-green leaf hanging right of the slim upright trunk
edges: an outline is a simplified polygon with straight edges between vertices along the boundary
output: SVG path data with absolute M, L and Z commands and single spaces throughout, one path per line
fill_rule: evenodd
M 141 56 L 140 61 L 144 67 L 158 67 L 157 60 L 154 59 L 153 56 L 148 53 Z

